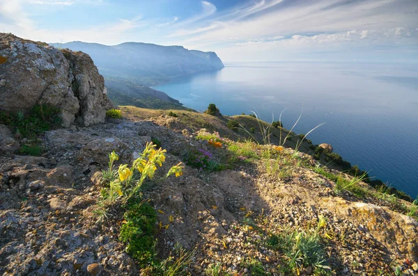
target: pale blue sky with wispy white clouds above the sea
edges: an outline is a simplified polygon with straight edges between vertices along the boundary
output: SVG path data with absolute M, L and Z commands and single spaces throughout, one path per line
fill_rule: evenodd
M 418 62 L 418 0 L 0 0 L 0 32 L 238 61 Z

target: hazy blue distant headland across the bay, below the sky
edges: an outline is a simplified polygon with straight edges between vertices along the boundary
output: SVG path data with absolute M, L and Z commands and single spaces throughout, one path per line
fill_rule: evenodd
M 169 81 L 173 76 L 219 70 L 224 67 L 214 52 L 126 42 L 115 46 L 97 43 L 51 43 L 58 48 L 83 51 L 93 58 L 105 77 L 134 81 L 145 86 Z

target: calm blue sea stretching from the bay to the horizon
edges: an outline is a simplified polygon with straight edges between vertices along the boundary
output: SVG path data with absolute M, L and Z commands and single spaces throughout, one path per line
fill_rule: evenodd
M 329 143 L 353 165 L 418 195 L 418 66 L 353 63 L 235 63 L 155 87 L 199 111 L 279 120 Z

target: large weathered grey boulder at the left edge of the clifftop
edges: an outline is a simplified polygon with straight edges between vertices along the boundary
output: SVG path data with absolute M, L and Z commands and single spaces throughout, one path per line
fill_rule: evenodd
M 0 33 L 0 110 L 28 111 L 36 104 L 60 108 L 63 127 L 104 122 L 113 107 L 87 54 Z

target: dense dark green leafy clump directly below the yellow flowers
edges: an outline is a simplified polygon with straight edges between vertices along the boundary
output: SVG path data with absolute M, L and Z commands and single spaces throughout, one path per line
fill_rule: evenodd
M 126 243 L 126 252 L 138 261 L 139 268 L 146 268 L 154 259 L 155 210 L 146 202 L 133 202 L 123 217 L 126 223 L 121 227 L 119 240 Z

